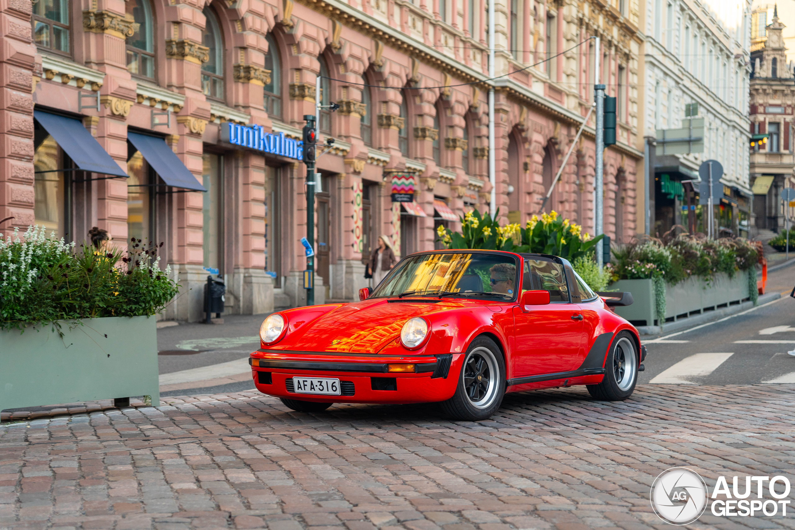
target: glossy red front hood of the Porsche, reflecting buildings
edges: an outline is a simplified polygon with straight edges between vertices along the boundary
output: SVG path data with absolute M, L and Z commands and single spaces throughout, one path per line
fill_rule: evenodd
M 391 300 L 377 298 L 355 304 L 335 304 L 330 311 L 325 310 L 328 306 L 284 311 L 288 333 L 269 349 L 377 354 L 400 336 L 408 319 L 415 316 L 431 319 L 442 311 L 483 304 L 469 300 L 441 300 L 435 304 Z

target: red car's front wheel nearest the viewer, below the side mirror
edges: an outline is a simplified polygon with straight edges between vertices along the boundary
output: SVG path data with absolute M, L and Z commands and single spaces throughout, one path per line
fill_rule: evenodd
M 505 395 L 505 362 L 488 337 L 472 341 L 463 358 L 456 393 L 442 402 L 442 410 L 456 420 L 487 420 Z

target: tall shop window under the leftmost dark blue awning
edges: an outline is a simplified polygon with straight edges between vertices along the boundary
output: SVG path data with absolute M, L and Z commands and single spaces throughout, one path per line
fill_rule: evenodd
M 58 144 L 43 129 L 36 129 L 37 147 L 33 153 L 33 224 L 44 226 L 49 236 L 55 232 L 56 238 L 66 236 L 67 194 L 64 193 L 68 179 L 64 172 L 64 153 Z M 41 141 L 41 143 L 39 143 Z

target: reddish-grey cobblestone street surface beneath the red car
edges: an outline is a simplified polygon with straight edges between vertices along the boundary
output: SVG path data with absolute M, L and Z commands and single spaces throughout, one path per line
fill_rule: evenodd
M 479 424 L 428 406 L 311 416 L 257 393 L 165 402 L 3 424 L 0 528 L 669 528 L 649 503 L 662 470 L 710 488 L 795 471 L 795 385 L 513 394 Z M 709 510 L 692 526 L 738 524 L 795 527 Z

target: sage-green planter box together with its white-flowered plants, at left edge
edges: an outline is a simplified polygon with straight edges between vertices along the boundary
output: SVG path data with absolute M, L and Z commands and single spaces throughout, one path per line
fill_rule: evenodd
M 0 410 L 158 392 L 155 319 L 179 287 L 157 247 L 0 237 Z

